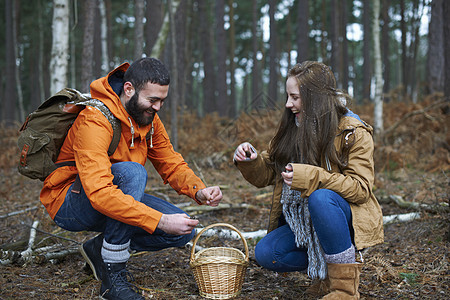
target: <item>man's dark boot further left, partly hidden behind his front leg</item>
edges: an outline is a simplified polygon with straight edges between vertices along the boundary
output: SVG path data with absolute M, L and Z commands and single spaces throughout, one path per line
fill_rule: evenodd
M 81 255 L 91 267 L 92 273 L 97 280 L 102 280 L 105 266 L 102 259 L 103 233 L 97 235 L 80 246 Z

